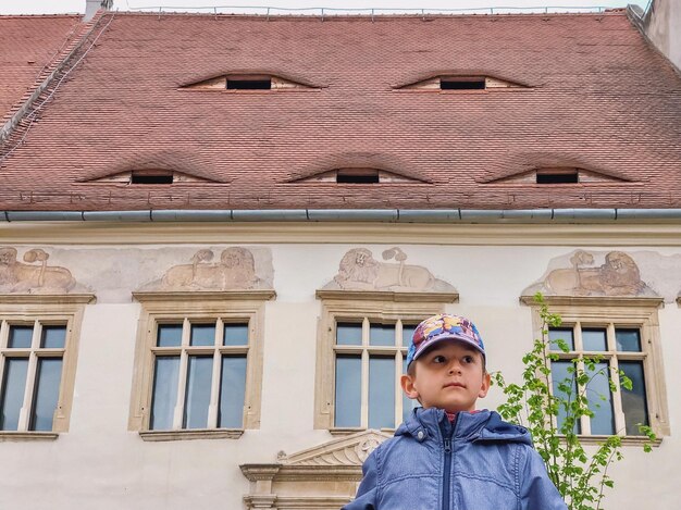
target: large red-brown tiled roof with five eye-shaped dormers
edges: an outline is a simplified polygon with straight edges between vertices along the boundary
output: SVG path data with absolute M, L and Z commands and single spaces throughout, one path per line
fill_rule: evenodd
M 623 11 L 111 13 L 81 58 L 2 148 L 0 210 L 681 207 L 681 78 Z M 312 89 L 181 89 L 226 74 Z M 528 87 L 396 90 L 446 74 Z M 407 182 L 304 178 L 354 166 Z M 512 178 L 555 166 L 602 178 Z M 210 182 L 88 183 L 141 169 Z

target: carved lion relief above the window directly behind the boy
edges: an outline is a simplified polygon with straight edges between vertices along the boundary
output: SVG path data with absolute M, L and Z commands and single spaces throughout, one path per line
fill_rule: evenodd
M 383 260 L 379 262 L 371 250 L 352 248 L 338 266 L 338 274 L 325 289 L 343 290 L 394 290 L 394 291 L 453 291 L 454 287 L 421 265 L 407 264 L 407 254 L 400 248 L 383 251 Z

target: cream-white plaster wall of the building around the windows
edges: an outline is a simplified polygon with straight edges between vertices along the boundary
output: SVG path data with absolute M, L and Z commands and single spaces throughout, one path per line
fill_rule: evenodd
M 382 250 L 392 246 L 366 247 L 381 260 Z M 407 253 L 408 263 L 428 268 L 457 288 L 460 302 L 449 304 L 448 311 L 474 320 L 487 347 L 490 369 L 502 370 L 507 380 L 519 378 L 521 354 L 533 339 L 531 313 L 519 303 L 520 294 L 546 272 L 552 259 L 580 248 L 399 246 Z M 331 439 L 326 431 L 312 428 L 321 311 L 314 291 L 333 278 L 340 258 L 354 247 L 262 245 L 272 253 L 277 298 L 265 307 L 261 428 L 246 431 L 239 439 L 145 443 L 137 433 L 127 431 L 140 307 L 131 302 L 129 297 L 126 302 L 121 298 L 129 296 L 132 289 L 114 288 L 109 282 L 107 295 L 115 299 L 86 308 L 70 432 L 54 441 L 0 443 L 0 509 L 20 505 L 23 510 L 244 508 L 242 497 L 248 493 L 248 482 L 239 464 L 274 462 L 280 450 L 294 453 Z M 139 260 L 148 261 L 153 259 L 145 254 L 158 248 L 134 250 L 140 253 Z M 590 251 L 612 249 L 590 248 Z M 101 257 L 106 252 L 104 259 L 115 259 L 115 268 L 125 268 L 137 257 L 129 257 L 132 247 L 119 250 L 107 247 L 101 251 L 97 247 L 78 247 L 77 250 L 81 251 L 66 253 L 69 248 L 61 247 L 61 259 L 55 259 L 108 263 Z M 194 247 L 183 246 L 183 257 L 191 250 Z M 644 281 L 671 281 L 671 287 L 681 289 L 681 263 L 678 263 L 681 250 L 646 248 L 645 253 L 649 254 L 643 250 L 622 250 L 643 253 L 636 257 L 642 261 Z M 670 264 L 671 269 L 658 271 L 655 264 L 645 262 L 652 258 L 674 263 Z M 659 274 L 654 274 L 656 271 Z M 82 268 L 74 273 L 84 274 Z M 97 278 L 90 281 L 96 285 Z M 129 281 L 119 282 L 127 285 Z M 656 510 L 678 508 L 681 493 L 676 467 L 681 453 L 678 440 L 681 400 L 676 389 L 681 385 L 677 361 L 681 359 L 678 341 L 681 309 L 673 297 L 668 297 L 660 310 L 672 436 L 666 437 L 663 446 L 649 455 L 626 448 L 626 460 L 614 469 L 617 490 L 609 493 L 606 508 L 649 508 L 651 501 L 655 501 Z M 479 407 L 493 409 L 499 401 L 500 395 L 493 388 Z

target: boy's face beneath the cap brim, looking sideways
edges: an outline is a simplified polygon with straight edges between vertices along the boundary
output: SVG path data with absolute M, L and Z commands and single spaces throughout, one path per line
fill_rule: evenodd
M 460 341 L 441 341 L 413 361 L 411 375 L 401 376 L 409 398 L 421 406 L 449 412 L 473 411 L 475 400 L 487 395 L 490 374 L 482 354 Z

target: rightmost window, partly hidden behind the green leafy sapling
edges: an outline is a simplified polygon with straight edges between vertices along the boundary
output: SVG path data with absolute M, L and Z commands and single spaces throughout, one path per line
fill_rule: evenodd
M 635 441 L 642 438 L 637 425 L 641 423 L 660 436 L 668 435 L 657 320 L 659 300 L 633 298 L 635 306 L 632 298 L 572 300 L 584 304 L 561 307 L 547 299 L 549 310 L 562 318 L 560 327 L 548 331 L 550 351 L 559 356 L 558 361 L 552 362 L 554 390 L 559 391 L 558 384 L 571 377 L 568 369 L 580 354 L 600 357 L 594 371 L 581 365 L 592 377 L 586 397 L 594 415 L 583 416 L 574 432 L 584 436 L 617 434 Z M 604 306 L 594 304 L 597 302 Z M 565 341 L 568 352 L 560 350 L 558 339 Z M 615 377 L 616 391 L 610 391 L 607 374 L 620 370 L 631 378 L 633 388 L 620 387 Z M 559 422 L 560 419 L 559 415 Z

